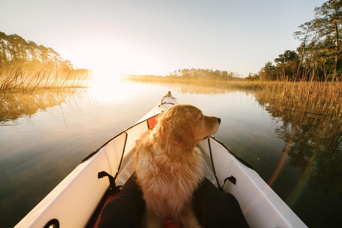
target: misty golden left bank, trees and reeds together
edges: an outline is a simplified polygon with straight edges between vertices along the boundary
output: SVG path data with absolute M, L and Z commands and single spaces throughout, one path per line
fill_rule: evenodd
M 88 87 L 91 70 L 74 69 L 52 48 L 0 31 L 0 93 Z

